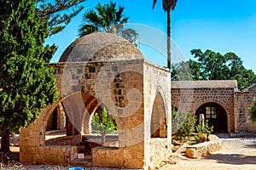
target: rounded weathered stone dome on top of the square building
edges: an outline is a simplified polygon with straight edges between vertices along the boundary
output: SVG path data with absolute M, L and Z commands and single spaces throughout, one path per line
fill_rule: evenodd
M 143 59 L 131 42 L 111 33 L 96 32 L 72 42 L 59 62 L 113 61 Z

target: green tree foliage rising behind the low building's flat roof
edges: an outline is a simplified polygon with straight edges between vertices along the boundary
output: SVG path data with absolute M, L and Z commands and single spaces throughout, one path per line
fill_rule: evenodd
M 191 54 L 196 60 L 172 65 L 172 80 L 237 80 L 239 88 L 256 82 L 254 72 L 247 70 L 234 53 L 223 55 L 209 49 L 193 49 Z

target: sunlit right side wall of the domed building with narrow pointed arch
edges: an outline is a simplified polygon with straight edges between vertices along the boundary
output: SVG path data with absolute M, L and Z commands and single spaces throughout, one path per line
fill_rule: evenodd
M 145 167 L 154 169 L 172 154 L 171 74 L 150 62 L 143 69 Z

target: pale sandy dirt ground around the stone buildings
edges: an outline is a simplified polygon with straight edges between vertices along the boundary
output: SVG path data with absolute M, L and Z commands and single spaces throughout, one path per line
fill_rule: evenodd
M 213 152 L 210 156 L 201 159 L 188 159 L 183 154 L 174 153 L 171 161 L 163 163 L 160 170 L 236 170 L 256 169 L 256 138 L 230 139 L 220 136 L 223 140 L 223 149 Z M 17 147 L 13 148 L 18 151 Z M 21 169 L 68 169 L 58 166 L 23 166 Z M 111 168 L 84 167 L 84 170 L 110 170 Z M 116 169 L 116 168 L 114 168 Z M 113 169 L 111 169 L 113 170 Z

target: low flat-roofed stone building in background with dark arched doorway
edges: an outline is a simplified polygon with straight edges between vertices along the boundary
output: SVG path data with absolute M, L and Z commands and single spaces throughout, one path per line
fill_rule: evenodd
M 256 84 L 239 90 L 236 81 L 172 82 L 172 107 L 204 114 L 216 133 L 256 133 L 248 108 L 256 97 Z

